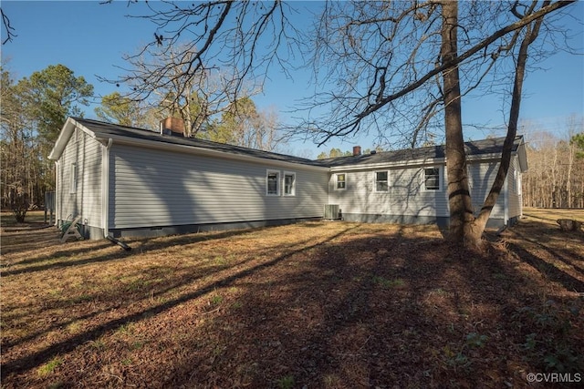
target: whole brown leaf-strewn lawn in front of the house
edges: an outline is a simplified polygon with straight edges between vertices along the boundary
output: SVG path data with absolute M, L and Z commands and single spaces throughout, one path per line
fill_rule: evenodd
M 433 226 L 308 222 L 132 251 L 4 231 L 2 387 L 584 381 L 584 234 L 559 231 L 558 212 L 526 216 L 483 255 Z

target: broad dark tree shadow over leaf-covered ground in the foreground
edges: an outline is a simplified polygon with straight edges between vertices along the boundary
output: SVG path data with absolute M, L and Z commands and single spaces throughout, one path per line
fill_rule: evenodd
M 251 251 L 236 251 L 212 279 L 193 267 L 156 284 L 161 301 L 110 291 L 101 297 L 130 302 L 122 315 L 5 361 L 3 381 L 26 384 L 18 377 L 59 355 L 62 386 L 524 386 L 522 372 L 543 371 L 522 348 L 537 329 L 514 319 L 542 293 L 538 273 L 518 269 L 523 258 L 456 252 L 437 232 L 412 227 L 336 228 L 273 246 L 262 240 L 276 229 L 225 236 Z M 193 237 L 143 241 L 143 250 L 168 252 Z M 121 342 L 118 330 L 130 324 L 136 342 Z M 569 333 L 543 335 L 584 351 Z

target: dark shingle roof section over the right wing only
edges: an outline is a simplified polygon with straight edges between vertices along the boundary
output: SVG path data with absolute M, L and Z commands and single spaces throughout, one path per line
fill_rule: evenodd
M 517 136 L 513 145 L 516 151 L 523 136 Z M 486 154 L 501 153 L 505 138 L 491 138 L 465 142 L 464 148 L 467 156 L 480 156 Z M 445 158 L 445 148 L 441 146 L 430 146 L 426 148 L 406 148 L 395 151 L 381 151 L 375 154 L 362 154 L 359 156 L 338 157 L 332 159 L 321 159 L 322 163 L 330 168 L 349 165 L 367 165 L 382 163 L 398 163 L 413 160 L 430 160 Z

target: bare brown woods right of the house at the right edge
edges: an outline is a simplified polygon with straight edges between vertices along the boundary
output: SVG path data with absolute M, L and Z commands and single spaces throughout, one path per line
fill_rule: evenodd
M 584 132 L 582 118 L 571 118 L 568 135 L 527 134 L 528 170 L 523 175 L 523 205 L 584 208 Z

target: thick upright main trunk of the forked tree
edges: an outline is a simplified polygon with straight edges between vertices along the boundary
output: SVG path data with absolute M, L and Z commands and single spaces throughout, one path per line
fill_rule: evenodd
M 452 62 L 458 54 L 458 3 L 443 2 L 442 15 L 441 59 L 445 64 Z M 442 76 L 448 204 L 450 206 L 448 239 L 465 246 L 477 246 L 480 243 L 482 231 L 474 230 L 472 224 L 474 214 L 466 170 L 458 66 L 446 68 Z

